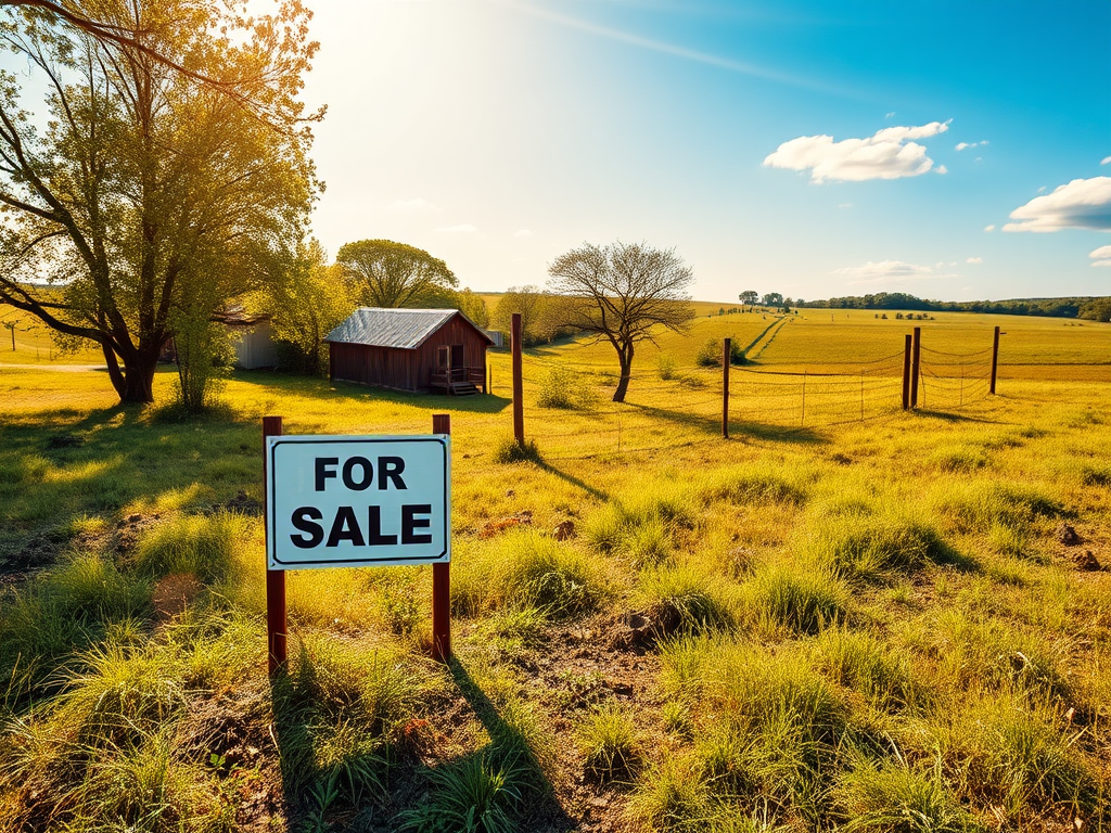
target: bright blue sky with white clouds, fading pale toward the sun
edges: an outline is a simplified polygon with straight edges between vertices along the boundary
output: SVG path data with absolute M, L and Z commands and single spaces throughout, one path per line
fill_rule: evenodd
M 312 7 L 332 254 L 496 291 L 644 240 L 721 301 L 1111 293 L 1103 0 Z

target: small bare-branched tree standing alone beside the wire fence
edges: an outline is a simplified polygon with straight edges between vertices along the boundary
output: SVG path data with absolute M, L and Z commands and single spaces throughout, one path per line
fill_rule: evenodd
M 685 332 L 694 317 L 687 292 L 694 275 L 674 249 L 585 243 L 557 258 L 548 274 L 548 289 L 570 299 L 562 323 L 594 333 L 617 351 L 621 380 L 614 402 L 624 402 L 637 345 L 655 343 L 664 330 Z

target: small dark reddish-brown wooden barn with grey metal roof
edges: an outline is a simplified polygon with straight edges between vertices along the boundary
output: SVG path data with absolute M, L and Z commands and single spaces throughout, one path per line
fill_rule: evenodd
M 486 392 L 493 341 L 459 310 L 361 307 L 328 333 L 329 377 L 402 391 Z

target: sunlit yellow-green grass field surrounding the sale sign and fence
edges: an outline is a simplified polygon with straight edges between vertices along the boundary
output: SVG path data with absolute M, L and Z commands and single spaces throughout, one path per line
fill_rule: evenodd
M 1111 563 L 1111 330 L 938 315 L 941 351 L 1004 323 L 999 395 L 903 414 L 884 370 L 861 422 L 905 322 L 717 309 L 623 405 L 607 345 L 529 351 L 523 460 L 502 352 L 494 397 L 240 372 L 178 420 L 171 373 L 119 408 L 102 373 L 0 369 L 0 829 L 1105 827 L 1111 574 L 1071 555 Z M 721 440 L 698 349 L 765 330 Z M 589 408 L 538 408 L 553 367 Z M 805 371 L 804 419 L 801 377 L 749 370 Z M 301 571 L 270 686 L 262 525 L 227 504 L 261 499 L 276 413 L 451 414 L 452 666 L 431 571 Z

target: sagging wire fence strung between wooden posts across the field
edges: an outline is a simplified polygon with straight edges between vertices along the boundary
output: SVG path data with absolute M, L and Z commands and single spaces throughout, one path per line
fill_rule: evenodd
M 913 374 L 914 405 L 953 411 L 993 392 L 998 347 L 965 353 L 921 344 Z M 624 402 L 613 402 L 619 374 L 612 364 L 530 357 L 522 365 L 522 415 L 529 440 L 547 460 L 660 451 L 709 443 L 731 430 L 754 426 L 815 429 L 890 418 L 909 408 L 909 348 L 848 369 L 813 372 L 733 365 L 725 375 L 702 368 L 630 378 Z M 543 407 L 552 387 L 569 388 L 562 407 Z M 728 423 L 723 415 L 728 409 Z

